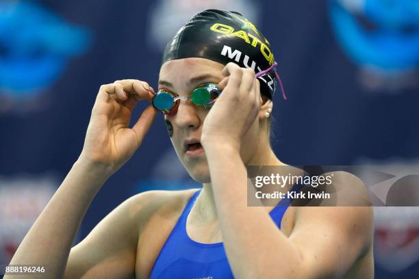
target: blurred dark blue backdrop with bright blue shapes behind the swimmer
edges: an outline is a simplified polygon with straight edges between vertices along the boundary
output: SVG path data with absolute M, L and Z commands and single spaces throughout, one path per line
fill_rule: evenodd
M 241 12 L 270 41 L 288 96 L 274 100 L 281 161 L 419 170 L 418 0 L 0 0 L 0 263 L 79 156 L 99 86 L 157 88 L 166 42 L 207 8 Z M 129 196 L 188 187 L 200 185 L 160 115 L 94 199 L 76 242 Z M 418 207 L 374 211 L 376 278 L 418 278 Z

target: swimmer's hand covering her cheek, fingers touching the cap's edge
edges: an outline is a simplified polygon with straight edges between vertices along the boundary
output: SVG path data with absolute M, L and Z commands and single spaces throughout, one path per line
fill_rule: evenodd
M 259 81 L 252 68 L 240 68 L 230 62 L 219 83 L 222 94 L 208 112 L 202 128 L 201 144 L 229 145 L 240 150 L 241 139 L 249 130 L 262 102 Z

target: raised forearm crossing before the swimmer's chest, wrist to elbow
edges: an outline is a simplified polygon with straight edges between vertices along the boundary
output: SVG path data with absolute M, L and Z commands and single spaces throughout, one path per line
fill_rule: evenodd
M 238 278 L 299 278 L 301 254 L 266 209 L 247 206 L 247 174 L 240 154 L 206 148 L 220 230 Z M 273 277 L 272 277 L 273 276 Z

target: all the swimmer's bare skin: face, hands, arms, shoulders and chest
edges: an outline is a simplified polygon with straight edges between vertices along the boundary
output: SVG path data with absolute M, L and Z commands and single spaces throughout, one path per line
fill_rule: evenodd
M 189 82 L 207 74 L 212 77 Z M 179 159 L 203 183 L 188 215 L 189 237 L 202 243 L 223 241 L 236 278 L 373 278 L 370 207 L 290 207 L 279 230 L 268 215 L 272 207 L 246 206 L 245 166 L 284 165 L 268 142 L 264 114 L 273 103 L 261 98 L 254 75 L 236 64 L 200 58 L 167 62 L 161 68 L 159 86 L 181 96 L 204 82 L 219 83 L 223 90 L 209 111 L 181 101 L 177 114 L 165 117 L 173 126 L 171 141 Z M 138 101 L 151 101 L 151 92 L 147 83 L 136 80 L 101 86 L 79 159 L 10 264 L 47 265 L 47 274 L 39 278 L 149 277 L 196 189 L 133 196 L 86 239 L 73 248 L 71 243 L 97 191 L 134 154 L 151 126 L 157 112 L 148 107 L 128 127 L 132 109 Z M 201 140 L 201 156 L 185 154 L 183 140 L 190 137 Z M 336 187 L 362 189 L 351 174 L 339 172 L 335 178 Z

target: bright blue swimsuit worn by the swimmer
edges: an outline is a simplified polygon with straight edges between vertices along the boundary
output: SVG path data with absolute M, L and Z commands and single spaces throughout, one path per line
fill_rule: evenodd
M 295 191 L 298 186 L 294 185 L 290 191 Z M 186 233 L 186 217 L 200 191 L 196 191 L 183 209 L 177 224 L 157 256 L 150 278 L 234 278 L 223 242 L 199 243 L 190 239 Z M 284 198 L 269 213 L 278 228 L 281 228 L 282 217 L 290 203 L 289 199 Z

